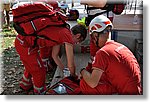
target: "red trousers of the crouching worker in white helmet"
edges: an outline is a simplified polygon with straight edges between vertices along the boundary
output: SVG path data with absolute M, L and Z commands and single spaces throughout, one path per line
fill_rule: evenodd
M 95 88 L 91 88 L 84 79 L 80 80 L 80 89 L 85 95 L 111 95 L 115 93 L 109 84 L 99 84 Z

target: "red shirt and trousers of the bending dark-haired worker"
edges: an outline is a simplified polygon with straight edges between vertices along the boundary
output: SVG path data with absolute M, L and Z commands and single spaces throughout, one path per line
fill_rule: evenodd
M 32 48 L 30 45 L 33 45 L 34 37 L 18 35 L 15 40 L 16 50 L 25 66 L 20 86 L 25 90 L 34 87 L 34 92 L 36 94 L 42 94 L 46 90 L 46 68 L 44 67 L 39 55 L 39 48 L 53 47 L 55 45 L 61 45 L 64 43 L 73 44 L 71 31 L 64 27 L 49 27 L 42 30 L 39 35 L 40 34 L 46 35 L 53 41 L 38 39 L 37 46 Z

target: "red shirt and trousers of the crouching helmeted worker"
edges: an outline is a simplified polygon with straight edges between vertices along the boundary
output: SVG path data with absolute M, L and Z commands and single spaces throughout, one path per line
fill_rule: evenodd
M 141 72 L 132 52 L 122 44 L 107 42 L 97 53 L 92 67 L 100 68 L 103 74 L 95 88 L 89 87 L 84 79 L 80 88 L 84 94 L 141 94 Z

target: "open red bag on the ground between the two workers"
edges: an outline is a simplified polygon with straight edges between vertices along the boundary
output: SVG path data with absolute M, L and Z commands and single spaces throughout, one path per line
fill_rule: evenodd
M 52 87 L 47 88 L 48 95 L 81 95 L 82 92 L 79 86 L 80 80 L 71 76 L 65 77 Z

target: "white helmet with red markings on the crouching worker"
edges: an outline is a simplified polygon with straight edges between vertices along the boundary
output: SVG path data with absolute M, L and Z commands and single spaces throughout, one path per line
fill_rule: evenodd
M 101 32 L 107 26 L 113 27 L 111 21 L 103 15 L 96 16 L 89 25 L 89 34 L 91 35 L 93 32 Z

